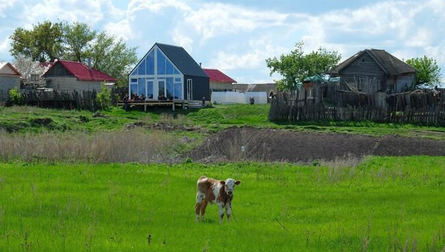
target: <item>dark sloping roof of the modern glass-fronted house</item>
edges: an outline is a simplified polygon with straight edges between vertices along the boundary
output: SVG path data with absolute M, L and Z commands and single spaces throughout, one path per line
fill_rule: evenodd
M 171 62 L 173 62 L 184 75 L 208 77 L 203 71 L 203 68 L 201 68 L 201 66 L 193 60 L 192 56 L 190 56 L 190 54 L 188 54 L 182 47 L 160 43 L 156 43 L 155 45 L 162 50 L 168 59 L 171 60 Z

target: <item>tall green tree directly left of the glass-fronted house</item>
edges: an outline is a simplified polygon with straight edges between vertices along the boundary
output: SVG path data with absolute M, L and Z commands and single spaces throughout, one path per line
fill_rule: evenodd
M 136 47 L 127 47 L 122 39 L 104 31 L 97 35 L 91 58 L 93 67 L 118 79 L 118 85 L 127 83 L 131 66 L 138 62 Z

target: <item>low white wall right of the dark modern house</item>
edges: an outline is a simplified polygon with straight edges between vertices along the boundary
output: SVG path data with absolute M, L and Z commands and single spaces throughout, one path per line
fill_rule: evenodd
M 249 98 L 255 99 L 255 104 L 267 103 L 266 92 L 212 92 L 212 103 L 249 103 Z

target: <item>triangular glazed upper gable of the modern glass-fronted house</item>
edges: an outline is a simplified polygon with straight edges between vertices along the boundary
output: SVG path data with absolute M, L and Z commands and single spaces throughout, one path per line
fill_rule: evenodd
M 155 53 L 156 50 L 156 53 Z M 157 59 L 155 59 L 157 57 Z M 162 63 L 163 62 L 163 63 Z M 155 73 L 155 63 L 157 63 L 157 73 Z M 157 45 L 144 55 L 138 64 L 131 70 L 130 75 L 179 75 L 183 74 L 179 68 L 173 64 L 167 55 Z

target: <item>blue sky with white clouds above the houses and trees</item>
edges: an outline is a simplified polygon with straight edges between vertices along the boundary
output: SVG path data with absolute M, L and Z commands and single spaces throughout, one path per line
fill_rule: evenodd
M 307 52 L 323 47 L 343 59 L 367 48 L 401 59 L 428 55 L 445 75 L 445 0 L 0 0 L 0 60 L 12 60 L 16 27 L 44 19 L 89 23 L 138 47 L 139 57 L 154 42 L 181 45 L 239 83 L 278 79 L 264 60 L 299 40 Z

